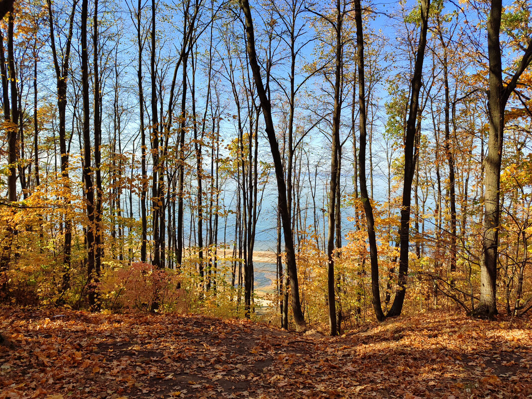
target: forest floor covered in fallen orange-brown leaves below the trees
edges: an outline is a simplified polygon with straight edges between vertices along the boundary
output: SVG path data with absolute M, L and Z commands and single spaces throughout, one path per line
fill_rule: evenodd
M 435 312 L 331 338 L 197 315 L 3 307 L 0 398 L 523 398 L 531 327 Z

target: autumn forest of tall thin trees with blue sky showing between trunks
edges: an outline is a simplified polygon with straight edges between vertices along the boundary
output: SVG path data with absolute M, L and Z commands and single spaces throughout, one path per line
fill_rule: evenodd
M 532 310 L 527 1 L 0 9 L 6 309 Z

